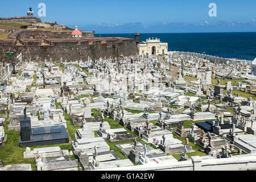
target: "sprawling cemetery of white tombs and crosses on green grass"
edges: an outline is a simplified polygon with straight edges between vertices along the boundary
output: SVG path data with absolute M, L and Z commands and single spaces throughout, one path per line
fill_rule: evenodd
M 1 66 L 0 171 L 255 170 L 251 65 L 172 56 Z

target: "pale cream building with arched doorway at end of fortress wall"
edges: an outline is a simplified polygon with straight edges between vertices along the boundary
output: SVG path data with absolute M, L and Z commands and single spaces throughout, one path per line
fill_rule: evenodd
M 160 39 L 147 39 L 146 42 L 139 43 L 139 55 L 167 55 L 168 43 L 161 43 Z

